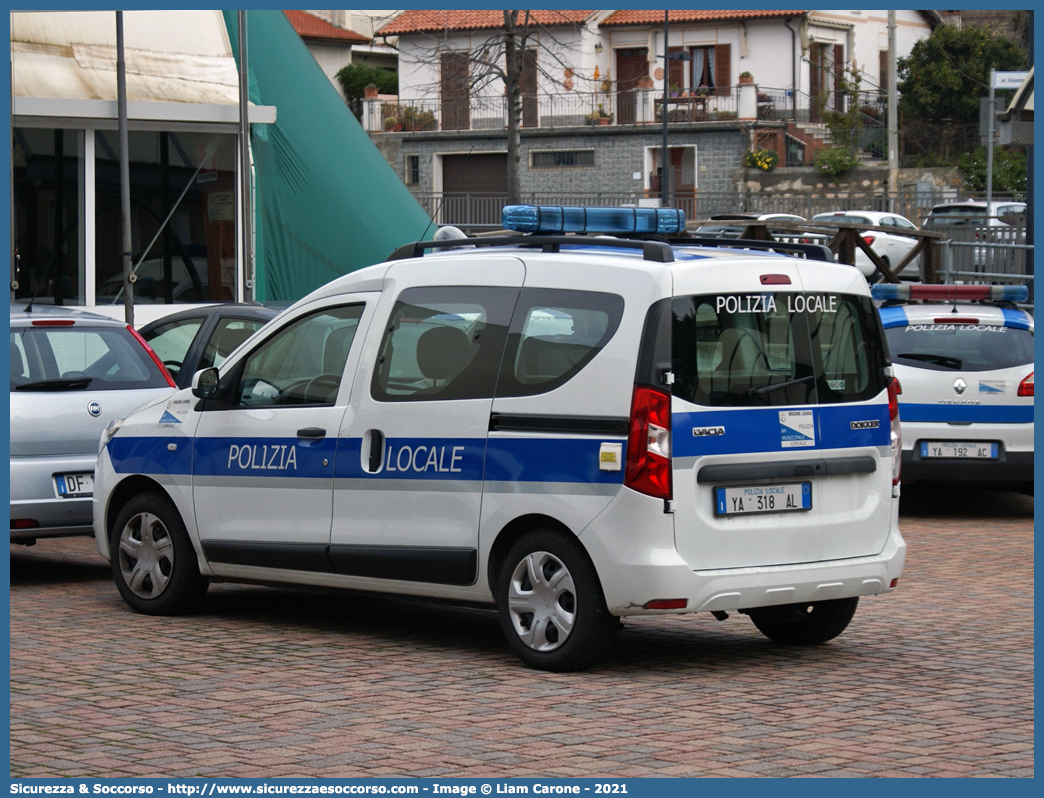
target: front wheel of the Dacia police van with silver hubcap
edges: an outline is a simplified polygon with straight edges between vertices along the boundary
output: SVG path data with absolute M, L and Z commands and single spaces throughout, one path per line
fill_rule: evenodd
M 110 538 L 113 579 L 132 609 L 146 615 L 179 615 L 207 592 L 195 549 L 173 502 L 142 493 L 120 511 Z

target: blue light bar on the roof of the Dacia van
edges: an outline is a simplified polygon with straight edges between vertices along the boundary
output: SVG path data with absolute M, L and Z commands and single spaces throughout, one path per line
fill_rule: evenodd
M 508 205 L 504 230 L 519 233 L 659 233 L 685 231 L 678 208 L 583 208 L 562 205 Z

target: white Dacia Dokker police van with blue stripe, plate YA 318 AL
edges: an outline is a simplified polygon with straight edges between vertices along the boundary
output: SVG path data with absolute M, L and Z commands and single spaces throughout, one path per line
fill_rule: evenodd
M 898 401 L 858 272 L 669 237 L 671 209 L 504 218 L 334 280 L 110 426 L 95 530 L 135 610 L 209 580 L 489 603 L 568 671 L 620 617 L 818 643 L 896 587 Z

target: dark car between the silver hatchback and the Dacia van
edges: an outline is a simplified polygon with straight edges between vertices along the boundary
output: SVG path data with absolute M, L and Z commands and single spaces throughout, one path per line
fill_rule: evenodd
M 264 305 L 209 305 L 165 315 L 146 324 L 140 332 L 163 360 L 177 388 L 188 388 L 193 374 L 220 366 L 279 312 Z

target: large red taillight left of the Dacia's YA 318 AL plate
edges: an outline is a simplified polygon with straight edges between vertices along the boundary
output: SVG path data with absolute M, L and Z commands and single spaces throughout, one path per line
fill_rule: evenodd
M 635 385 L 623 484 L 656 498 L 671 497 L 670 396 Z

